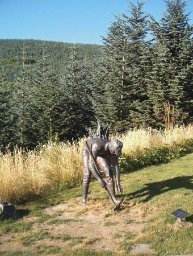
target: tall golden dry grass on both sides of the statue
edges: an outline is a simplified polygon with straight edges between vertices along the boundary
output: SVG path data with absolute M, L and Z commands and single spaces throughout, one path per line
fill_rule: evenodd
M 133 155 L 144 148 L 172 145 L 193 138 L 193 126 L 171 130 L 134 129 L 117 134 L 123 142 L 123 153 Z M 29 200 L 34 195 L 48 195 L 56 185 L 73 187 L 81 183 L 81 149 L 77 143 L 48 143 L 36 150 L 24 152 L 15 148 L 0 153 L 0 200 L 13 203 Z

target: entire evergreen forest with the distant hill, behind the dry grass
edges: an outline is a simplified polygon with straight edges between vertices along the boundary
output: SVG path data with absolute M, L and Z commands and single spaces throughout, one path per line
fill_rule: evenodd
M 72 141 L 97 120 L 111 131 L 193 118 L 193 26 L 183 0 L 157 21 L 129 3 L 103 46 L 0 40 L 0 145 Z

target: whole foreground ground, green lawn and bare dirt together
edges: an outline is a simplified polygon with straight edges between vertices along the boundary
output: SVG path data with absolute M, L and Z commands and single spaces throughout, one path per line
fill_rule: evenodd
M 96 181 L 86 207 L 81 187 L 20 206 L 18 221 L 0 222 L 1 255 L 192 254 L 192 159 L 189 154 L 122 174 L 124 203 L 118 213 Z M 171 215 L 178 208 L 190 213 L 182 224 Z

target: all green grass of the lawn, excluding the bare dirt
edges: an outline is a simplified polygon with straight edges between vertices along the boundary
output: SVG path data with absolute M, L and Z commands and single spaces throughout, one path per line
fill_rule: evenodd
M 155 255 L 182 255 L 193 254 L 193 154 L 183 156 L 182 158 L 171 160 L 170 163 L 161 164 L 159 166 L 150 166 L 143 168 L 139 171 L 131 172 L 129 174 L 121 174 L 121 185 L 124 189 L 123 197 L 127 198 L 127 202 L 136 202 L 141 209 L 144 229 L 141 231 L 142 236 L 130 236 L 126 233 L 122 236 L 122 242 L 120 242 L 121 249 L 125 250 L 125 253 L 129 253 L 129 250 L 135 243 L 146 243 L 150 245 L 150 248 L 155 251 Z M 106 192 L 99 188 L 97 181 L 90 184 L 91 194 L 88 196 L 88 204 L 99 201 L 106 203 Z M 28 232 L 33 222 L 23 222 L 23 216 L 35 216 L 39 217 L 37 222 L 47 221 L 47 224 L 67 224 L 71 222 L 70 219 L 58 219 L 57 216 L 49 216 L 44 214 L 42 210 L 45 207 L 56 205 L 62 201 L 73 199 L 74 197 L 81 196 L 81 187 L 68 189 L 68 191 L 61 192 L 61 194 L 53 193 L 50 200 L 46 200 L 42 197 L 37 197 L 35 201 L 19 207 L 19 220 L 3 220 L 0 222 L 1 233 L 15 233 L 15 232 Z M 118 196 L 120 198 L 120 196 Z M 175 209 L 182 208 L 190 213 L 190 216 L 186 220 L 190 223 L 188 226 L 184 226 L 175 230 L 173 226 L 176 224 L 176 218 L 171 215 Z M 150 220 L 146 221 L 145 217 L 150 216 Z M 130 217 L 130 216 L 129 216 Z M 78 217 L 77 217 L 78 218 Z M 132 218 L 132 216 L 131 216 Z M 70 221 L 69 221 L 70 220 Z M 112 219 L 111 219 L 112 220 Z M 74 220 L 73 221 L 77 221 Z M 117 221 L 116 221 L 117 222 Z M 83 223 L 83 222 L 82 222 Z M 116 225 L 113 221 L 104 222 L 104 226 Z M 124 224 L 131 224 L 132 220 L 124 220 Z M 191 226 L 192 224 L 192 226 Z M 82 224 L 83 225 L 83 224 Z M 30 237 L 31 243 L 37 239 L 49 238 L 49 234 L 37 234 Z M 124 237 L 125 236 L 125 237 Z M 119 234 L 115 234 L 116 238 L 120 238 Z M 58 238 L 59 239 L 59 238 Z M 104 255 L 104 256 L 117 256 L 112 252 L 104 251 L 90 251 L 90 250 L 73 250 L 73 246 L 77 243 L 85 242 L 82 237 L 68 237 L 66 234 L 60 237 L 62 241 L 68 241 L 72 246 L 72 250 L 60 251 L 60 255 L 71 256 L 90 256 L 90 255 Z M 88 239 L 88 238 L 87 238 Z M 25 241 L 25 240 L 23 240 Z M 48 249 L 43 248 L 43 251 Z M 58 249 L 59 250 L 59 249 Z M 56 249 L 57 251 L 57 249 Z M 1 253 L 1 255 L 36 255 L 38 252 L 18 253 Z M 37 254 L 38 255 L 38 254 Z M 124 254 L 123 254 L 124 255 Z

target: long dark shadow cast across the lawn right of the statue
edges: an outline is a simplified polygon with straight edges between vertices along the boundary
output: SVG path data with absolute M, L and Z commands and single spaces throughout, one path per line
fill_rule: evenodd
M 144 197 L 140 203 L 148 202 L 154 196 L 161 195 L 167 191 L 171 191 L 179 188 L 193 189 L 193 176 L 180 176 L 169 180 L 163 180 L 159 182 L 146 183 L 145 188 L 137 190 L 136 192 L 123 195 L 129 197 L 129 199 L 135 199 L 137 197 Z M 190 216 L 191 217 L 191 216 Z M 192 217 L 191 217 L 192 218 Z

